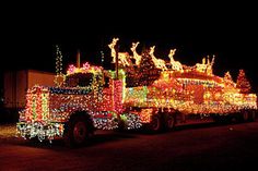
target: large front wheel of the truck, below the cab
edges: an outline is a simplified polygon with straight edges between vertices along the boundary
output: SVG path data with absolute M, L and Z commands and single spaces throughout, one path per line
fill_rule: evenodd
M 64 130 L 64 142 L 68 146 L 83 145 L 90 136 L 89 125 L 84 115 L 75 115 L 68 122 Z

